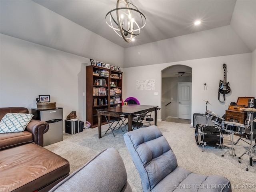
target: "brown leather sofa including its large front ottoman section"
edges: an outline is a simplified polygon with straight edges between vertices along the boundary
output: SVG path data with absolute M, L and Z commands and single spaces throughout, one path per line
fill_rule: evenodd
M 0 108 L 6 113 L 28 113 L 27 108 Z M 68 160 L 43 148 L 46 122 L 32 119 L 23 132 L 0 134 L 0 191 L 46 192 L 70 172 Z

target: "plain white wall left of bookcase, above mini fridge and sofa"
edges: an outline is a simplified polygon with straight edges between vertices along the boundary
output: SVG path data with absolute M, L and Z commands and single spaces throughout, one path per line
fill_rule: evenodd
M 36 108 L 50 95 L 63 118 L 75 110 L 85 120 L 85 66 L 90 59 L 0 34 L 0 107 Z M 30 110 L 31 112 L 31 110 Z

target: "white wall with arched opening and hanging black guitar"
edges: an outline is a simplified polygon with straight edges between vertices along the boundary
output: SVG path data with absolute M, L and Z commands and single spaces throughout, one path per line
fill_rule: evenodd
M 226 95 L 226 102 L 220 103 L 218 87 L 219 81 L 223 80 L 224 63 L 227 65 L 227 81 L 230 82 L 231 92 Z M 124 98 L 133 96 L 141 104 L 161 106 L 161 71 L 173 65 L 186 65 L 192 68 L 192 114 L 205 112 L 206 104 L 203 100 L 208 100 L 212 104 L 208 105 L 208 110 L 222 116 L 230 102 L 236 102 L 238 97 L 256 97 L 255 94 L 252 95 L 251 90 L 252 54 L 246 53 L 124 68 Z M 136 80 L 143 79 L 155 79 L 155 90 L 136 90 Z M 204 90 L 204 83 L 207 90 Z M 154 92 L 158 92 L 158 95 L 154 95 Z M 158 120 L 160 119 L 161 112 L 158 112 Z

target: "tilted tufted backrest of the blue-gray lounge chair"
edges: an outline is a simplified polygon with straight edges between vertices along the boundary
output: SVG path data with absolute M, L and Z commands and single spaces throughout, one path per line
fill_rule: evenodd
M 155 125 L 127 132 L 124 141 L 140 174 L 144 192 L 151 191 L 178 166 L 170 145 Z

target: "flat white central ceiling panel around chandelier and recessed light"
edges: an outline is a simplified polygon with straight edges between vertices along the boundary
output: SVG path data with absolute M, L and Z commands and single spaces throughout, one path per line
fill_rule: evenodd
M 127 43 L 105 22 L 116 0 L 34 0 L 124 48 L 230 25 L 236 0 L 128 0 L 146 16 L 135 42 Z M 194 25 L 195 20 L 202 24 Z

